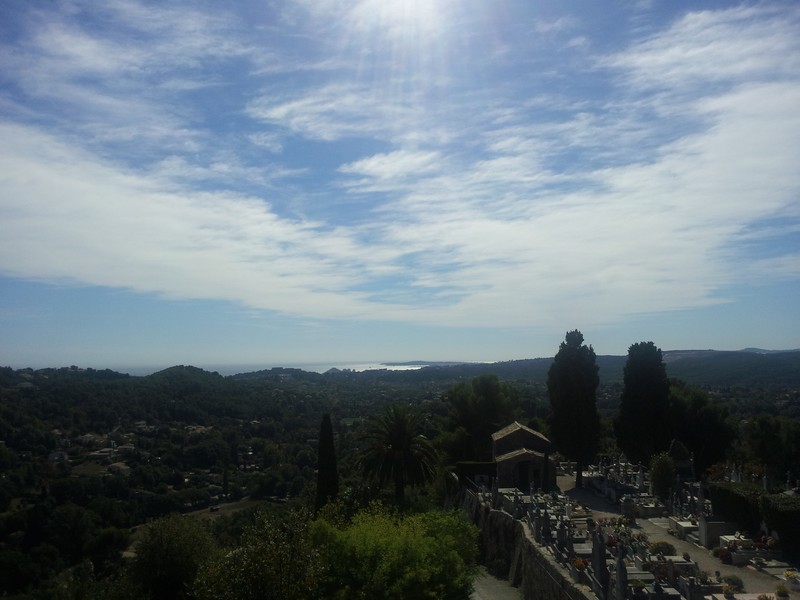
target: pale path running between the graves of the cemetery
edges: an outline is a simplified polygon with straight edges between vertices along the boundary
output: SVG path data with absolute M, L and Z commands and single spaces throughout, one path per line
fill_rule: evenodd
M 620 514 L 617 506 L 607 502 L 604 498 L 596 496 L 592 491 L 575 489 L 574 477 L 559 477 L 558 487 L 567 496 L 577 500 L 595 513 L 595 519 Z M 678 554 L 688 552 L 692 560 L 697 561 L 700 570 L 707 571 L 712 577 L 716 571 L 719 571 L 723 577 L 725 575 L 737 575 L 742 578 L 746 593 L 759 594 L 763 592 L 774 596 L 775 586 L 778 584 L 777 579 L 761 571 L 756 571 L 752 567 L 735 567 L 722 564 L 722 561 L 714 558 L 708 549 L 669 535 L 664 519 L 637 519 L 634 529 L 644 531 L 651 542 L 669 542 L 675 546 Z M 792 600 L 800 600 L 800 594 L 797 592 L 792 592 L 790 597 Z

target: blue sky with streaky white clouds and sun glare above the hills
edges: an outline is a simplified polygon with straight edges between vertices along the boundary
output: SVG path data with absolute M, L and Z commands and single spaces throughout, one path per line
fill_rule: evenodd
M 800 5 L 0 3 L 0 365 L 800 347 Z

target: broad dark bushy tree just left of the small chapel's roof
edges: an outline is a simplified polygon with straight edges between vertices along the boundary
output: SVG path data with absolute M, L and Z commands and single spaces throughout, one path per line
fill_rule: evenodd
M 451 418 L 456 428 L 463 428 L 461 447 L 454 452 L 464 460 L 491 460 L 492 434 L 516 416 L 519 392 L 510 383 L 501 383 L 497 375 L 481 375 L 471 382 L 459 383 L 447 392 Z

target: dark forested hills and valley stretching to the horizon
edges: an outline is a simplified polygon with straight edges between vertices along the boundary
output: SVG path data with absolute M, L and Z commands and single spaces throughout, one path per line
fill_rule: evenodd
M 767 465 L 778 481 L 800 464 L 799 359 L 800 353 L 665 353 L 673 378 L 667 434 L 693 450 L 698 474 L 709 468 L 713 476 L 715 463 L 733 460 L 751 465 L 753 476 Z M 399 504 L 408 514 L 439 510 L 452 492 L 448 470 L 458 461 L 487 460 L 487 436 L 512 420 L 550 434 L 551 363 L 326 374 L 270 369 L 229 377 L 188 366 L 146 377 L 78 367 L 0 368 L 0 594 L 79 597 L 54 590 L 85 584 L 94 597 L 150 597 L 141 572 L 131 583 L 134 559 L 124 557 L 135 556 L 137 544 L 149 539 L 142 538 L 143 524 L 175 513 L 211 520 L 213 527 L 202 533 L 210 547 L 256 544 L 258 536 L 246 532 L 265 526 L 258 519 L 273 517 L 257 517 L 253 508 L 271 507 L 279 522 L 294 514 L 290 509 L 313 509 L 326 414 L 338 457 L 338 508 L 327 525 L 312 525 L 306 513 L 296 531 L 307 532 L 307 540 L 317 536 L 314 547 L 329 550 L 330 544 L 354 543 L 351 528 L 369 527 L 367 519 L 400 531 L 392 519 L 405 517 L 358 515 L 376 500 Z M 622 357 L 597 357 L 601 455 L 620 453 L 612 421 L 626 385 L 625 364 Z M 373 477 L 365 460 L 365 436 L 383 435 L 394 427 L 391 419 L 422 434 L 430 444 L 422 455 L 436 461 L 415 471 L 432 480 L 408 479 L 400 495 L 391 477 Z M 439 526 L 439 517 L 426 518 L 425 527 Z M 428 542 L 408 543 L 422 548 Z M 467 542 L 458 543 L 463 550 Z M 191 579 L 204 573 L 208 597 L 225 585 L 224 569 L 198 569 Z M 352 589 L 375 584 L 363 576 L 348 575 Z M 120 586 L 138 591 L 119 596 Z

